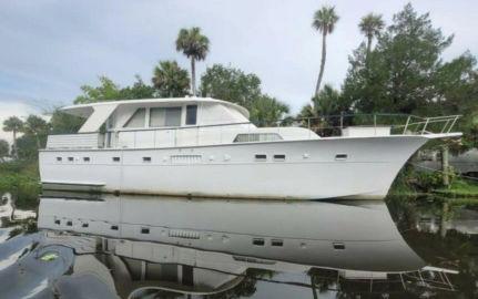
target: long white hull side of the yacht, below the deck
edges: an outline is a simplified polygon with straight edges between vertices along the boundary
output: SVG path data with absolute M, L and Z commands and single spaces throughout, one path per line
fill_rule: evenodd
M 380 199 L 428 138 L 394 135 L 150 150 L 45 150 L 40 152 L 40 174 L 50 186 L 132 194 Z M 260 162 L 255 155 L 267 158 Z M 274 155 L 285 159 L 276 161 Z

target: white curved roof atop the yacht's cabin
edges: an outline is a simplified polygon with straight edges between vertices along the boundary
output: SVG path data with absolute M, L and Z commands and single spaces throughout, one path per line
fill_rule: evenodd
M 217 103 L 225 105 L 227 107 L 232 107 L 243 114 L 246 118 L 250 117 L 248 111 L 240 106 L 237 104 L 216 100 L 212 97 L 169 97 L 169 99 L 142 99 L 142 100 L 122 100 L 122 101 L 104 101 L 98 103 L 89 103 L 89 104 L 79 104 L 79 105 L 70 105 L 62 107 L 61 111 L 81 117 L 89 117 L 96 107 L 110 106 L 116 109 L 120 105 L 134 105 L 141 106 L 143 104 L 157 104 L 157 103 L 177 103 L 177 104 L 194 104 L 194 103 Z M 113 109 L 113 110 L 114 110 Z

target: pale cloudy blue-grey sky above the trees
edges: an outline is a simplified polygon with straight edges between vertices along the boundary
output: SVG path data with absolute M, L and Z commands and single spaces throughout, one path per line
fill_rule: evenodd
M 120 86 L 140 74 L 150 82 L 161 60 L 189 61 L 175 51 L 181 28 L 200 27 L 211 51 L 197 64 L 222 63 L 257 74 L 263 91 L 297 112 L 311 99 L 321 61 L 315 10 L 335 6 L 339 21 L 327 40 L 324 83 L 339 87 L 348 55 L 364 40 L 357 24 L 369 12 L 386 23 L 408 1 L 319 0 L 0 0 L 0 121 L 70 104 L 82 84 L 106 75 Z M 450 60 L 478 55 L 478 2 L 411 1 L 455 40 Z M 0 132 L 0 138 L 8 137 Z

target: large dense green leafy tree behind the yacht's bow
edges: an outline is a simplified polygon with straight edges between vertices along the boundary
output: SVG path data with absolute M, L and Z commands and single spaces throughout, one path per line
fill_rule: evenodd
M 364 44 L 354 52 L 344 96 L 366 113 L 411 114 L 434 106 L 441 53 L 451 40 L 431 25 L 428 13 L 405 6 L 368 58 Z

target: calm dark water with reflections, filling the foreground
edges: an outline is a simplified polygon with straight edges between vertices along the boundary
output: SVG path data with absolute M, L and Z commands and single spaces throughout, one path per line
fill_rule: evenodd
M 416 203 L 52 194 L 0 298 L 478 298 L 478 206 Z

